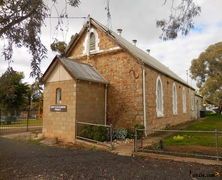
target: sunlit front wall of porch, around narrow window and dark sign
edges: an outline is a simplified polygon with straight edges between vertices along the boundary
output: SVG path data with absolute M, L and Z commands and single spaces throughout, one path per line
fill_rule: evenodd
M 56 89 L 62 89 L 61 105 L 67 105 L 67 112 L 51 112 L 55 105 Z M 45 137 L 75 141 L 76 83 L 74 80 L 49 82 L 45 84 L 43 104 L 43 134 Z

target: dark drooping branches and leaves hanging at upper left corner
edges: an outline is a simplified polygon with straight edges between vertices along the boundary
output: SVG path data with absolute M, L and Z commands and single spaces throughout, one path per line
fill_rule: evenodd
M 57 0 L 52 0 L 53 4 Z M 64 0 L 70 6 L 78 6 L 79 0 Z M 40 78 L 40 63 L 46 58 L 47 49 L 40 39 L 41 27 L 50 12 L 43 0 L 1 0 L 0 1 L 0 39 L 4 39 L 3 56 L 12 61 L 13 46 L 26 47 L 32 54 L 31 76 Z M 66 17 L 67 12 L 58 14 Z

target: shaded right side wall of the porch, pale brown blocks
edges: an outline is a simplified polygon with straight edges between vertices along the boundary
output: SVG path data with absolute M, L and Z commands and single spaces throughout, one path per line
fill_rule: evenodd
M 105 124 L 105 85 L 78 81 L 76 122 Z

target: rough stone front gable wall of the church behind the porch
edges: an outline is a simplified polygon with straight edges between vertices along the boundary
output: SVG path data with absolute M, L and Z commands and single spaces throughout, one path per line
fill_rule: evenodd
M 106 33 L 96 30 L 99 35 L 100 51 L 90 56 L 82 53 L 85 33 L 70 53 L 70 58 L 77 58 L 81 62 L 93 65 L 110 82 L 108 85 L 108 123 L 116 127 L 132 128 L 135 124 L 143 123 L 141 65 Z M 106 50 L 109 51 L 106 52 Z

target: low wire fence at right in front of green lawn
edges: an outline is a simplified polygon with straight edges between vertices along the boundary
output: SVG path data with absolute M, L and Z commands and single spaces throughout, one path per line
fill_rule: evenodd
M 222 131 L 135 129 L 134 151 L 222 160 Z

